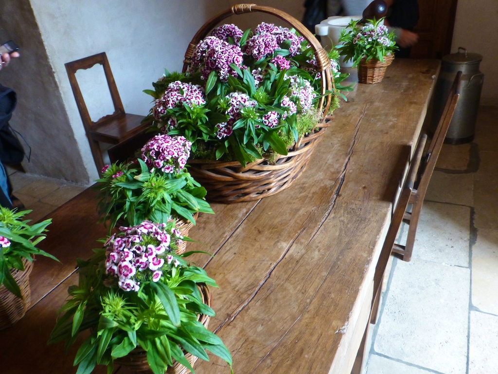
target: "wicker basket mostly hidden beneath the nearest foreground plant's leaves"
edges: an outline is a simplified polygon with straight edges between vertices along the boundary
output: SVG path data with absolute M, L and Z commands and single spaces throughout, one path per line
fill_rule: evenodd
M 204 298 L 204 303 L 211 307 L 211 293 L 209 292 L 209 288 L 206 285 L 199 285 L 201 288 L 201 293 Z M 198 320 L 207 328 L 209 324 L 209 320 L 211 317 L 201 314 L 198 317 Z M 191 355 L 190 353 L 185 353 L 185 358 L 190 363 L 191 366 L 197 361 L 197 357 Z M 149 364 L 147 363 L 147 352 L 145 352 L 141 348 L 135 348 L 131 351 L 127 356 L 122 357 L 120 359 L 114 360 L 114 363 L 117 365 L 121 365 L 126 367 L 132 373 L 137 374 L 152 374 L 150 370 Z M 173 360 L 173 366 L 168 367 L 165 374 L 187 374 L 190 373 L 183 365 L 179 364 L 175 360 Z

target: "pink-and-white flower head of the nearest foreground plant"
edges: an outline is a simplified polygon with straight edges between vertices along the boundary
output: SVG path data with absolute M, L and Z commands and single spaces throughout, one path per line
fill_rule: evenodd
M 174 226 L 143 221 L 120 229 L 123 236 L 112 235 L 105 243 L 105 267 L 122 290 L 138 291 L 142 281 L 159 281 L 164 265 L 179 265 L 173 254 L 183 237 Z

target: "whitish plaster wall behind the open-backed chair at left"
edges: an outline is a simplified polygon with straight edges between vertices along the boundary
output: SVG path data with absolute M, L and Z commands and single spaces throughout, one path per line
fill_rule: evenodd
M 106 52 L 126 112 L 146 115 L 164 68 L 181 70 L 197 29 L 228 0 L 31 0 L 71 126 L 91 181 L 97 170 L 64 63 Z M 106 93 L 107 95 L 107 93 Z M 96 102 L 101 99 L 95 95 Z M 92 103 L 89 103 L 92 105 Z

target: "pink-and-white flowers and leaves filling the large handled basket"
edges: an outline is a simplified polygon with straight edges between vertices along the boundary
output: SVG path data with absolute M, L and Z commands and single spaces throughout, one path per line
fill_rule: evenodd
M 316 70 L 313 48 L 294 29 L 225 24 L 198 43 L 184 73 L 166 71 L 144 91 L 155 99 L 147 120 L 163 134 L 185 136 L 194 158 L 271 160 L 323 115 Z

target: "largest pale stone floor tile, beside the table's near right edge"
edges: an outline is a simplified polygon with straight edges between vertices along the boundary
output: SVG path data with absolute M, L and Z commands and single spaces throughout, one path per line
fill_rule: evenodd
M 470 270 L 412 259 L 397 261 L 374 352 L 445 374 L 465 374 Z

